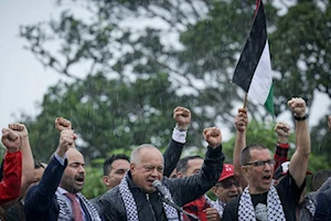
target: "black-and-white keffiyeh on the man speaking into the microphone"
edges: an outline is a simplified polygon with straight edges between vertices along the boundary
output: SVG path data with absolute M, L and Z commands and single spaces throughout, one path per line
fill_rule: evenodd
M 126 212 L 127 212 L 127 220 L 128 221 L 139 221 L 138 212 L 137 212 L 137 204 L 136 204 L 135 198 L 132 196 L 132 192 L 129 189 L 129 186 L 127 182 L 127 177 L 128 177 L 128 173 L 125 176 L 124 179 L 121 179 L 121 181 L 119 183 L 119 192 L 120 192 L 121 199 L 125 203 L 125 208 L 126 208 Z M 169 200 L 171 202 L 173 202 L 169 189 L 164 186 L 163 186 L 163 188 L 164 188 L 164 191 L 167 192 L 167 194 L 169 196 Z M 173 207 L 167 204 L 166 202 L 162 202 L 162 206 L 164 208 L 168 220 L 173 220 L 173 221 L 181 220 L 178 215 L 178 211 Z

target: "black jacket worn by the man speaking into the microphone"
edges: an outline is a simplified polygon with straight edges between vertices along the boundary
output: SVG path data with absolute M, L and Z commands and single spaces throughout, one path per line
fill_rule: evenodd
M 209 147 L 204 164 L 197 175 L 182 179 L 169 179 L 164 177 L 162 183 L 170 190 L 174 202 L 182 207 L 204 194 L 217 182 L 222 172 L 223 161 L 222 147 L 217 147 L 216 149 Z M 157 192 L 151 194 L 145 193 L 131 181 L 130 172 L 128 175 L 127 181 L 137 204 L 139 220 L 167 220 L 159 194 Z M 97 203 L 102 209 L 104 220 L 127 221 L 127 213 L 119 187 L 106 192 L 98 199 Z

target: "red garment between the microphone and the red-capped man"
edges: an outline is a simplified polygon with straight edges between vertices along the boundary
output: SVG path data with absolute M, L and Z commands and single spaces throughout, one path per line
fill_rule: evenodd
M 196 200 L 184 204 L 183 210 L 192 214 L 195 214 L 201 221 L 206 221 L 207 219 L 203 210 L 207 208 L 210 208 L 210 204 L 207 203 L 205 197 L 201 196 Z M 184 215 L 184 221 L 191 221 L 191 220 L 186 218 L 186 215 Z

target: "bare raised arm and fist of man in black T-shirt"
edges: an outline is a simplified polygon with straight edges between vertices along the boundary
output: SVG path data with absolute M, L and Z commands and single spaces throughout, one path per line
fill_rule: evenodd
M 302 98 L 291 98 L 288 102 L 289 107 L 297 117 L 306 116 L 306 102 Z M 308 159 L 310 154 L 310 134 L 307 119 L 296 119 L 296 151 L 291 158 L 289 172 L 296 180 L 298 187 L 301 187 L 306 179 Z

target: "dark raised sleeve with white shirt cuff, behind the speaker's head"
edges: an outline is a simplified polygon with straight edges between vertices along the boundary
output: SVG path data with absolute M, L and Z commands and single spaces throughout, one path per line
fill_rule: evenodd
M 168 148 L 163 154 L 164 158 L 164 171 L 163 175 L 169 177 L 171 172 L 174 170 L 175 165 L 181 157 L 184 144 L 174 141 L 173 139 L 170 140 Z

